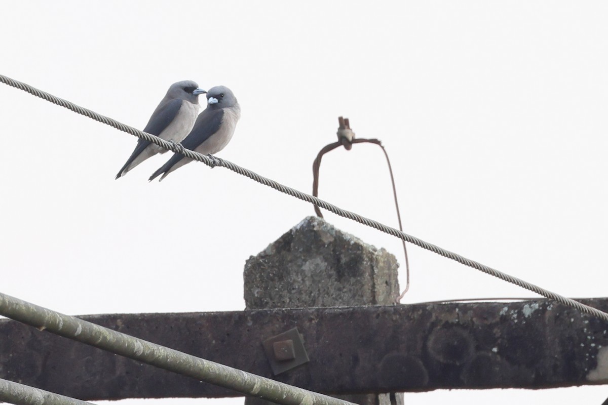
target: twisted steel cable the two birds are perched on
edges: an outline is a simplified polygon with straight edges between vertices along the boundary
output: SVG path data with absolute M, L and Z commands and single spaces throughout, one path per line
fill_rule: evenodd
M 461 256 L 458 253 L 451 252 L 449 250 L 445 250 L 443 248 L 438 247 L 437 245 L 433 245 L 432 243 L 425 242 L 422 239 L 418 239 L 415 236 L 411 236 L 402 231 L 396 230 L 390 226 L 386 226 L 378 221 L 373 219 L 368 219 L 366 217 L 360 216 L 359 214 L 352 213 L 351 211 L 346 211 L 345 209 L 339 208 L 336 205 L 325 202 L 317 197 L 313 197 L 305 192 L 296 190 L 294 188 L 282 185 L 281 183 L 275 182 L 274 180 L 263 177 L 249 169 L 242 168 L 241 166 L 235 165 L 228 160 L 223 160 L 221 158 L 217 158 L 213 155 L 202 155 L 198 152 L 190 151 L 188 149 L 184 149 L 182 145 L 167 142 L 162 140 L 159 137 L 155 137 L 154 135 L 147 134 L 146 132 L 139 131 L 139 129 L 135 129 L 131 126 L 125 125 L 116 121 L 112 118 L 105 117 L 105 115 L 97 114 L 97 112 L 91 111 L 84 107 L 77 106 L 70 101 L 63 100 L 63 98 L 55 97 L 52 94 L 47 92 L 43 92 L 42 90 L 38 90 L 35 87 L 30 86 L 29 84 L 22 83 L 21 81 L 13 80 L 4 75 L 0 75 L 0 81 L 4 84 L 8 84 L 9 86 L 16 87 L 17 89 L 24 90 L 29 94 L 35 95 L 36 97 L 43 98 L 44 100 L 50 101 L 50 103 L 58 104 L 59 106 L 65 107 L 71 111 L 77 112 L 78 114 L 85 115 L 85 117 L 89 117 L 95 121 L 99 121 L 101 123 L 112 126 L 113 128 L 119 129 L 120 131 L 126 132 L 128 134 L 134 135 L 138 138 L 142 138 L 144 140 L 150 141 L 155 145 L 161 146 L 162 148 L 168 149 L 172 152 L 179 153 L 184 155 L 185 157 L 192 158 L 197 160 L 198 162 L 205 163 L 207 166 L 214 168 L 216 166 L 222 166 L 224 168 L 230 169 L 233 172 L 236 172 L 245 177 L 249 177 L 249 179 L 255 180 L 258 183 L 261 183 L 265 186 L 274 188 L 280 192 L 288 194 L 289 196 L 296 197 L 297 199 L 303 200 L 305 202 L 318 205 L 321 208 L 324 208 L 328 211 L 331 211 L 334 214 L 337 214 L 341 217 L 348 218 L 350 220 L 354 220 L 356 222 L 362 223 L 364 225 L 370 226 L 371 228 L 375 228 L 376 230 L 382 231 L 389 235 L 398 237 L 399 239 L 405 240 L 406 242 L 413 243 L 414 245 L 421 247 L 426 250 L 430 250 L 434 253 L 439 254 L 440 256 L 447 257 L 448 259 L 452 259 L 460 264 L 464 264 L 468 267 L 472 267 L 475 270 L 483 271 L 483 273 L 489 274 L 491 276 L 497 277 L 503 281 L 510 282 L 511 284 L 519 285 L 519 287 L 525 288 L 527 290 L 533 291 L 539 295 L 542 295 L 546 298 L 553 299 L 554 301 L 561 302 L 562 304 L 568 305 L 570 307 L 576 308 L 582 313 L 587 313 L 593 316 L 597 316 L 604 321 L 608 321 L 608 313 L 600 311 L 596 308 L 589 307 L 589 305 L 581 304 L 578 301 L 574 301 L 573 299 L 564 297 L 560 294 L 553 293 L 553 291 L 545 290 L 545 288 L 539 287 L 535 284 L 531 284 L 527 281 L 523 281 L 517 277 L 510 276 L 509 274 L 503 273 L 502 271 L 496 270 L 475 260 L 467 259 L 464 256 Z

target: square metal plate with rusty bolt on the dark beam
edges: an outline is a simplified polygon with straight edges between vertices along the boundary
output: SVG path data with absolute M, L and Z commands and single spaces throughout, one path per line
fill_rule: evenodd
M 309 362 L 302 335 L 293 328 L 262 342 L 272 374 L 277 375 Z

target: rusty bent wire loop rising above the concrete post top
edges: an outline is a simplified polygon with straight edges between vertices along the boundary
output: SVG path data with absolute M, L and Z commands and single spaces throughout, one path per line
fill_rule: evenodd
M 339 117 L 338 123 L 339 123 L 338 131 L 337 131 L 338 141 L 324 146 L 319 151 L 319 153 L 317 154 L 317 158 L 313 162 L 313 196 L 319 197 L 319 169 L 321 167 L 321 159 L 323 158 L 323 155 L 325 155 L 327 152 L 333 151 L 334 149 L 336 149 L 339 146 L 344 146 L 344 148 L 347 151 L 350 151 L 350 149 L 353 147 L 352 146 L 353 143 L 374 143 L 374 144 L 380 146 L 380 148 L 382 148 L 382 152 L 384 152 L 384 157 L 386 157 L 386 163 L 387 163 L 387 165 L 389 165 L 390 181 L 393 185 L 393 197 L 395 198 L 395 209 L 397 211 L 397 219 L 399 222 L 399 231 L 403 232 L 403 226 L 401 225 L 401 213 L 399 213 L 399 202 L 397 201 L 397 189 L 395 187 L 395 177 L 393 176 L 393 168 L 390 165 L 389 154 L 387 154 L 386 149 L 384 148 L 384 146 L 382 146 L 382 142 L 375 138 L 373 138 L 373 139 L 357 138 L 356 139 L 354 137 L 354 132 L 350 128 L 350 121 L 348 120 L 348 118 Z M 319 206 L 316 205 L 315 203 L 313 203 L 313 206 L 314 206 L 314 212 L 317 214 L 317 217 L 323 218 L 323 214 L 321 213 L 321 209 L 319 208 Z M 403 254 L 404 254 L 404 257 L 406 258 L 406 288 L 396 298 L 395 302 L 397 302 L 397 303 L 399 301 L 401 301 L 403 296 L 410 289 L 410 262 L 407 257 L 406 241 L 401 240 L 401 242 L 403 243 Z

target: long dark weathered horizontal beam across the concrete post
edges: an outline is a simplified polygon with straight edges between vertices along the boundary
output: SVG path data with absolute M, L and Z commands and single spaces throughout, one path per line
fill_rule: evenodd
M 324 393 L 608 381 L 608 324 L 547 300 L 80 318 L 269 377 L 261 342 L 297 327 L 310 361 L 275 379 Z M 8 320 L 0 378 L 81 400 L 238 396 Z

